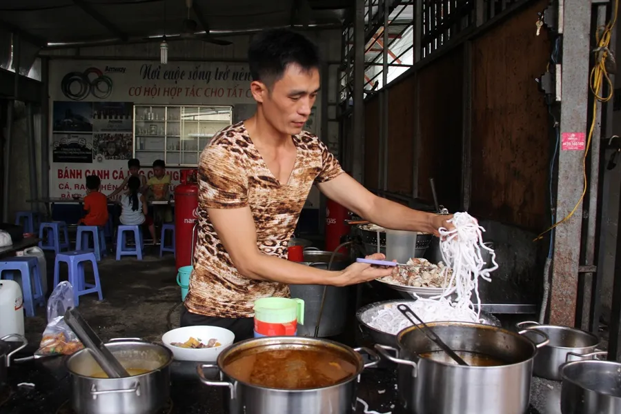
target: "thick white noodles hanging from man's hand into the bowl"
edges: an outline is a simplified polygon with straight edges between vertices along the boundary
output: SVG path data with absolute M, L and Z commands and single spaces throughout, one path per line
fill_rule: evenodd
M 468 213 L 455 213 L 449 220 L 455 228 L 440 228 L 440 252 L 448 267 L 453 268 L 449 283 L 444 286 L 455 286 L 445 289 L 440 297 L 419 297 L 413 305 L 413 311 L 424 322 L 457 321 L 482 322 L 481 298 L 479 297 L 479 278 L 491 282 L 490 273 L 498 268 L 494 250 L 483 244 L 482 232 L 474 217 Z M 483 261 L 481 249 L 489 251 L 491 264 Z M 490 266 L 490 267 L 486 267 Z M 445 270 L 444 277 L 448 273 Z M 457 297 L 449 295 L 455 292 Z M 476 295 L 476 306 L 472 302 L 472 293 Z

